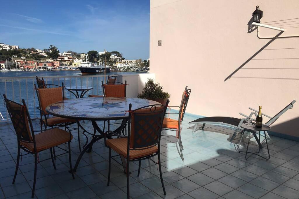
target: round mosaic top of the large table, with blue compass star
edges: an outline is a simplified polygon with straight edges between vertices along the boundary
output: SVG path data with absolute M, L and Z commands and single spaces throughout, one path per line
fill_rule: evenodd
M 83 120 L 116 120 L 128 117 L 126 111 L 132 104 L 132 110 L 144 106 L 160 104 L 141 98 L 94 97 L 64 100 L 50 104 L 46 111 L 61 118 Z

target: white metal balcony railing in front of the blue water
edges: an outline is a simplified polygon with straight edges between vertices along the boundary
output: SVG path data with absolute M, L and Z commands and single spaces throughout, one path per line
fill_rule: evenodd
M 88 95 L 103 94 L 101 81 L 107 81 L 108 75 L 46 76 L 43 78 L 46 84 L 56 84 L 61 86 L 61 83 L 63 82 L 65 87 L 93 87 L 92 90 L 84 95 L 84 97 L 88 97 Z M 36 107 L 39 107 L 39 103 L 36 92 L 34 91 L 34 84 L 36 84 L 35 77 L 0 77 L 0 94 L 1 96 L 5 94 L 8 99 L 18 103 L 21 103 L 22 99 L 25 99 L 30 117 L 39 118 L 39 110 L 36 109 Z M 65 97 L 69 99 L 75 98 L 75 96 L 67 90 L 65 90 Z M 0 112 L 0 123 L 3 121 L 10 121 L 7 109 L 4 106 L 4 101 L 0 102 Z

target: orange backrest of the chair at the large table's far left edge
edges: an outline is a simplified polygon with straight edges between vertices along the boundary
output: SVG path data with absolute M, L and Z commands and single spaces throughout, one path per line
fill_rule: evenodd
M 37 98 L 39 101 L 39 107 L 42 115 L 48 115 L 46 107 L 55 102 L 63 101 L 65 99 L 63 82 L 62 87 L 55 84 L 45 84 L 45 87 L 48 85 L 57 86 L 56 88 L 37 88 L 34 84 Z

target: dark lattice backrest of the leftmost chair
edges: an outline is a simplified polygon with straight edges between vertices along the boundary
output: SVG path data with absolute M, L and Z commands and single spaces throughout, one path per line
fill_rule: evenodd
M 32 142 L 34 133 L 31 134 L 33 127 L 25 100 L 22 99 L 23 105 L 21 105 L 7 99 L 5 94 L 3 96 L 18 141 Z

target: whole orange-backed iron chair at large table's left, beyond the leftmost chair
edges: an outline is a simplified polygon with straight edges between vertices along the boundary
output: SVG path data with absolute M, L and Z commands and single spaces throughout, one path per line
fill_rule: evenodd
M 52 88 L 50 88 L 51 86 Z M 50 118 L 48 117 L 49 114 L 46 111 L 46 107 L 52 103 L 65 100 L 63 82 L 62 82 L 62 86 L 55 85 L 55 84 L 45 84 L 42 85 L 41 88 L 37 88 L 36 84 L 34 84 L 34 88 L 36 90 L 36 95 L 40 107 L 39 111 L 40 111 L 41 131 L 43 126 L 45 127 L 45 130 L 47 130 L 47 127 L 51 127 L 51 128 L 64 127 L 64 129 L 66 130 L 68 125 L 77 123 L 77 121 L 73 119 L 60 118 L 60 117 L 50 117 Z M 79 124 L 77 124 L 77 128 L 68 127 L 68 129 L 71 129 L 70 131 L 77 130 L 79 150 L 81 152 Z M 55 156 L 55 150 L 54 150 L 54 156 Z

